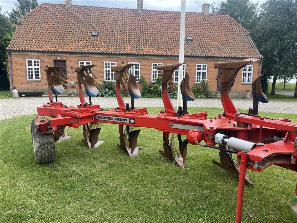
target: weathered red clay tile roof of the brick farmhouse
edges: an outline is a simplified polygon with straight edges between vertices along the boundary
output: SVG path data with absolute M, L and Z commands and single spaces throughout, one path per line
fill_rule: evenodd
M 178 55 L 180 12 L 42 3 L 19 20 L 7 49 Z M 262 58 L 227 14 L 186 13 L 185 56 Z M 91 36 L 98 32 L 98 36 Z

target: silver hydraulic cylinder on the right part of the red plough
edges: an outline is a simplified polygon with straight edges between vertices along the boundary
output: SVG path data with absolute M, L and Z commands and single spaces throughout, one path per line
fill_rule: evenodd
M 256 146 L 256 143 L 238 139 L 235 137 L 230 137 L 228 139 L 228 136 L 226 136 L 224 134 L 220 134 L 220 133 L 217 133 L 214 136 L 214 142 L 219 145 L 222 145 L 222 146 L 227 145 L 228 148 L 239 151 L 239 152 L 242 152 L 242 151 L 249 152 L 252 149 L 254 149 Z

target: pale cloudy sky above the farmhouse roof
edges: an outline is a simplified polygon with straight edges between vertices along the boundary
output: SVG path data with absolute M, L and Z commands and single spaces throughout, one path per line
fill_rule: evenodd
M 263 3 L 265 0 L 254 0 L 255 2 Z M 14 6 L 16 0 L 0 0 L 0 6 L 2 6 L 2 12 L 6 10 L 8 12 Z M 38 0 L 38 4 L 42 2 L 64 4 L 64 0 Z M 221 0 L 186 0 L 187 12 L 202 12 L 202 5 L 204 3 L 220 3 Z M 74 5 L 92 5 L 102 7 L 115 7 L 115 8 L 130 8 L 135 9 L 137 0 L 72 0 Z M 180 11 L 181 0 L 144 0 L 144 9 L 151 10 L 166 10 L 166 11 Z

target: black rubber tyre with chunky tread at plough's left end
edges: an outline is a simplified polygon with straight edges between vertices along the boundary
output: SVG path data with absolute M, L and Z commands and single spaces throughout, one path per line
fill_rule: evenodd
M 35 161 L 38 164 L 51 163 L 55 160 L 56 154 L 54 134 L 48 133 L 37 135 L 34 120 L 35 119 L 31 122 L 31 135 Z

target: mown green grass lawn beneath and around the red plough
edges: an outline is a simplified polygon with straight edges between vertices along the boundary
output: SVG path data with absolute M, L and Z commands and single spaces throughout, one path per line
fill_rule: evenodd
M 214 117 L 222 109 L 189 111 Z M 297 122 L 297 114 L 260 115 Z M 56 160 L 39 165 L 30 129 L 36 116 L 0 121 L 0 222 L 235 222 L 238 178 L 211 163 L 217 151 L 189 145 L 184 171 L 159 155 L 162 133 L 141 128 L 132 159 L 117 148 L 118 126 L 103 123 L 101 146 L 90 150 L 82 129 L 72 128 L 71 139 L 56 143 Z M 249 175 L 255 186 L 246 185 L 242 222 L 296 222 L 296 172 L 271 166 Z

